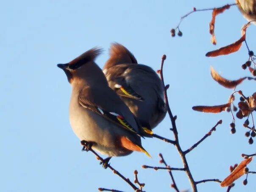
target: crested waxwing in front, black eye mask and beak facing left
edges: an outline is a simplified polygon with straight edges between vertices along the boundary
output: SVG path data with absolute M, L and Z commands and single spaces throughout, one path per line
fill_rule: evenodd
M 95 58 L 102 52 L 92 48 L 67 64 L 64 70 L 72 86 L 70 125 L 81 141 L 108 156 L 126 156 L 139 151 L 150 156 L 141 145 L 140 125 L 118 95 L 108 86 Z

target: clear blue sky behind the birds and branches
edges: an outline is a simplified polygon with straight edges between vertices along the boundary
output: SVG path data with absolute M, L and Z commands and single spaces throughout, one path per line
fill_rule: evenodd
M 130 186 L 111 170 L 103 170 L 92 153 L 81 152 L 68 120 L 70 84 L 64 72 L 56 67 L 95 46 L 105 50 L 97 58 L 97 64 L 103 67 L 111 42 L 125 45 L 139 63 L 154 70 L 159 69 L 161 56 L 167 55 L 164 77 L 170 84 L 170 106 L 178 116 L 177 127 L 184 150 L 223 119 L 217 131 L 189 153 L 187 159 L 195 180 L 224 179 L 229 173 L 229 165 L 242 161 L 241 153 L 255 153 L 256 144 L 248 145 L 242 121 L 237 121 L 237 133 L 231 135 L 230 114 L 203 114 L 192 111 L 192 106 L 225 103 L 232 92 L 211 79 L 210 65 L 226 78 L 249 75 L 241 69 L 241 64 L 248 59 L 245 45 L 230 56 L 205 57 L 206 52 L 239 39 L 240 28 L 247 21 L 236 7 L 218 15 L 216 46 L 210 43 L 211 11 L 198 12 L 184 19 L 182 38 L 171 38 L 169 31 L 192 7 L 209 8 L 225 3 L 234 2 L 3 1 L 0 6 L 0 191 L 91 192 L 98 187 L 131 191 Z M 253 25 L 248 28 L 247 38 L 256 52 L 255 34 Z M 238 89 L 249 95 L 253 93 L 252 87 L 255 82 L 246 81 Z M 172 139 L 170 126 L 166 117 L 154 132 Z M 171 181 L 166 171 L 140 167 L 142 164 L 159 166 L 159 152 L 171 167 L 181 167 L 175 147 L 158 139 L 142 142 L 152 159 L 142 153 L 132 153 L 111 159 L 111 165 L 131 180 L 134 170 L 138 170 L 139 181 L 146 184 L 147 192 L 170 191 Z M 254 160 L 250 167 L 256 170 Z M 173 174 L 179 189 L 190 189 L 183 172 Z M 243 179 L 236 182 L 232 191 L 255 189 L 255 175 L 249 175 L 247 186 L 242 186 Z M 200 184 L 198 190 L 226 191 L 218 183 Z

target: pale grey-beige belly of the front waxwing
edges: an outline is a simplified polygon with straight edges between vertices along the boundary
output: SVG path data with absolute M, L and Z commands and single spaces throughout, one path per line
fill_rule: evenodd
M 80 140 L 94 142 L 92 148 L 104 155 L 125 156 L 131 153 L 116 145 L 117 137 L 123 135 L 122 130 L 89 109 L 72 112 L 70 125 Z

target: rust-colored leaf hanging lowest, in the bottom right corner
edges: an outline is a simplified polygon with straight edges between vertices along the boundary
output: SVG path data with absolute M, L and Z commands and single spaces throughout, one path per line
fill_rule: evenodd
M 248 159 L 243 160 L 239 165 L 232 171 L 228 177 L 226 177 L 221 183 L 220 186 L 229 186 L 232 184 L 234 181 L 236 181 L 239 177 L 241 177 L 244 172 L 244 168 L 246 167 L 247 164 L 250 163 L 250 161 L 253 159 L 253 157 L 250 157 Z

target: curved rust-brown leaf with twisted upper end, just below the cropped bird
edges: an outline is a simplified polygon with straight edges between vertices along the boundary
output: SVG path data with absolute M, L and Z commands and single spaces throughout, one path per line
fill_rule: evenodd
M 230 53 L 234 53 L 234 52 L 238 51 L 242 45 L 242 42 L 245 41 L 246 28 L 248 28 L 249 25 L 250 25 L 250 23 L 247 23 L 242 26 L 241 38 L 238 39 L 236 42 L 234 42 L 230 45 L 227 45 L 225 47 L 221 47 L 217 50 L 210 51 L 210 52 L 206 53 L 206 57 L 216 57 L 216 56 L 221 56 L 221 55 L 228 55 Z

